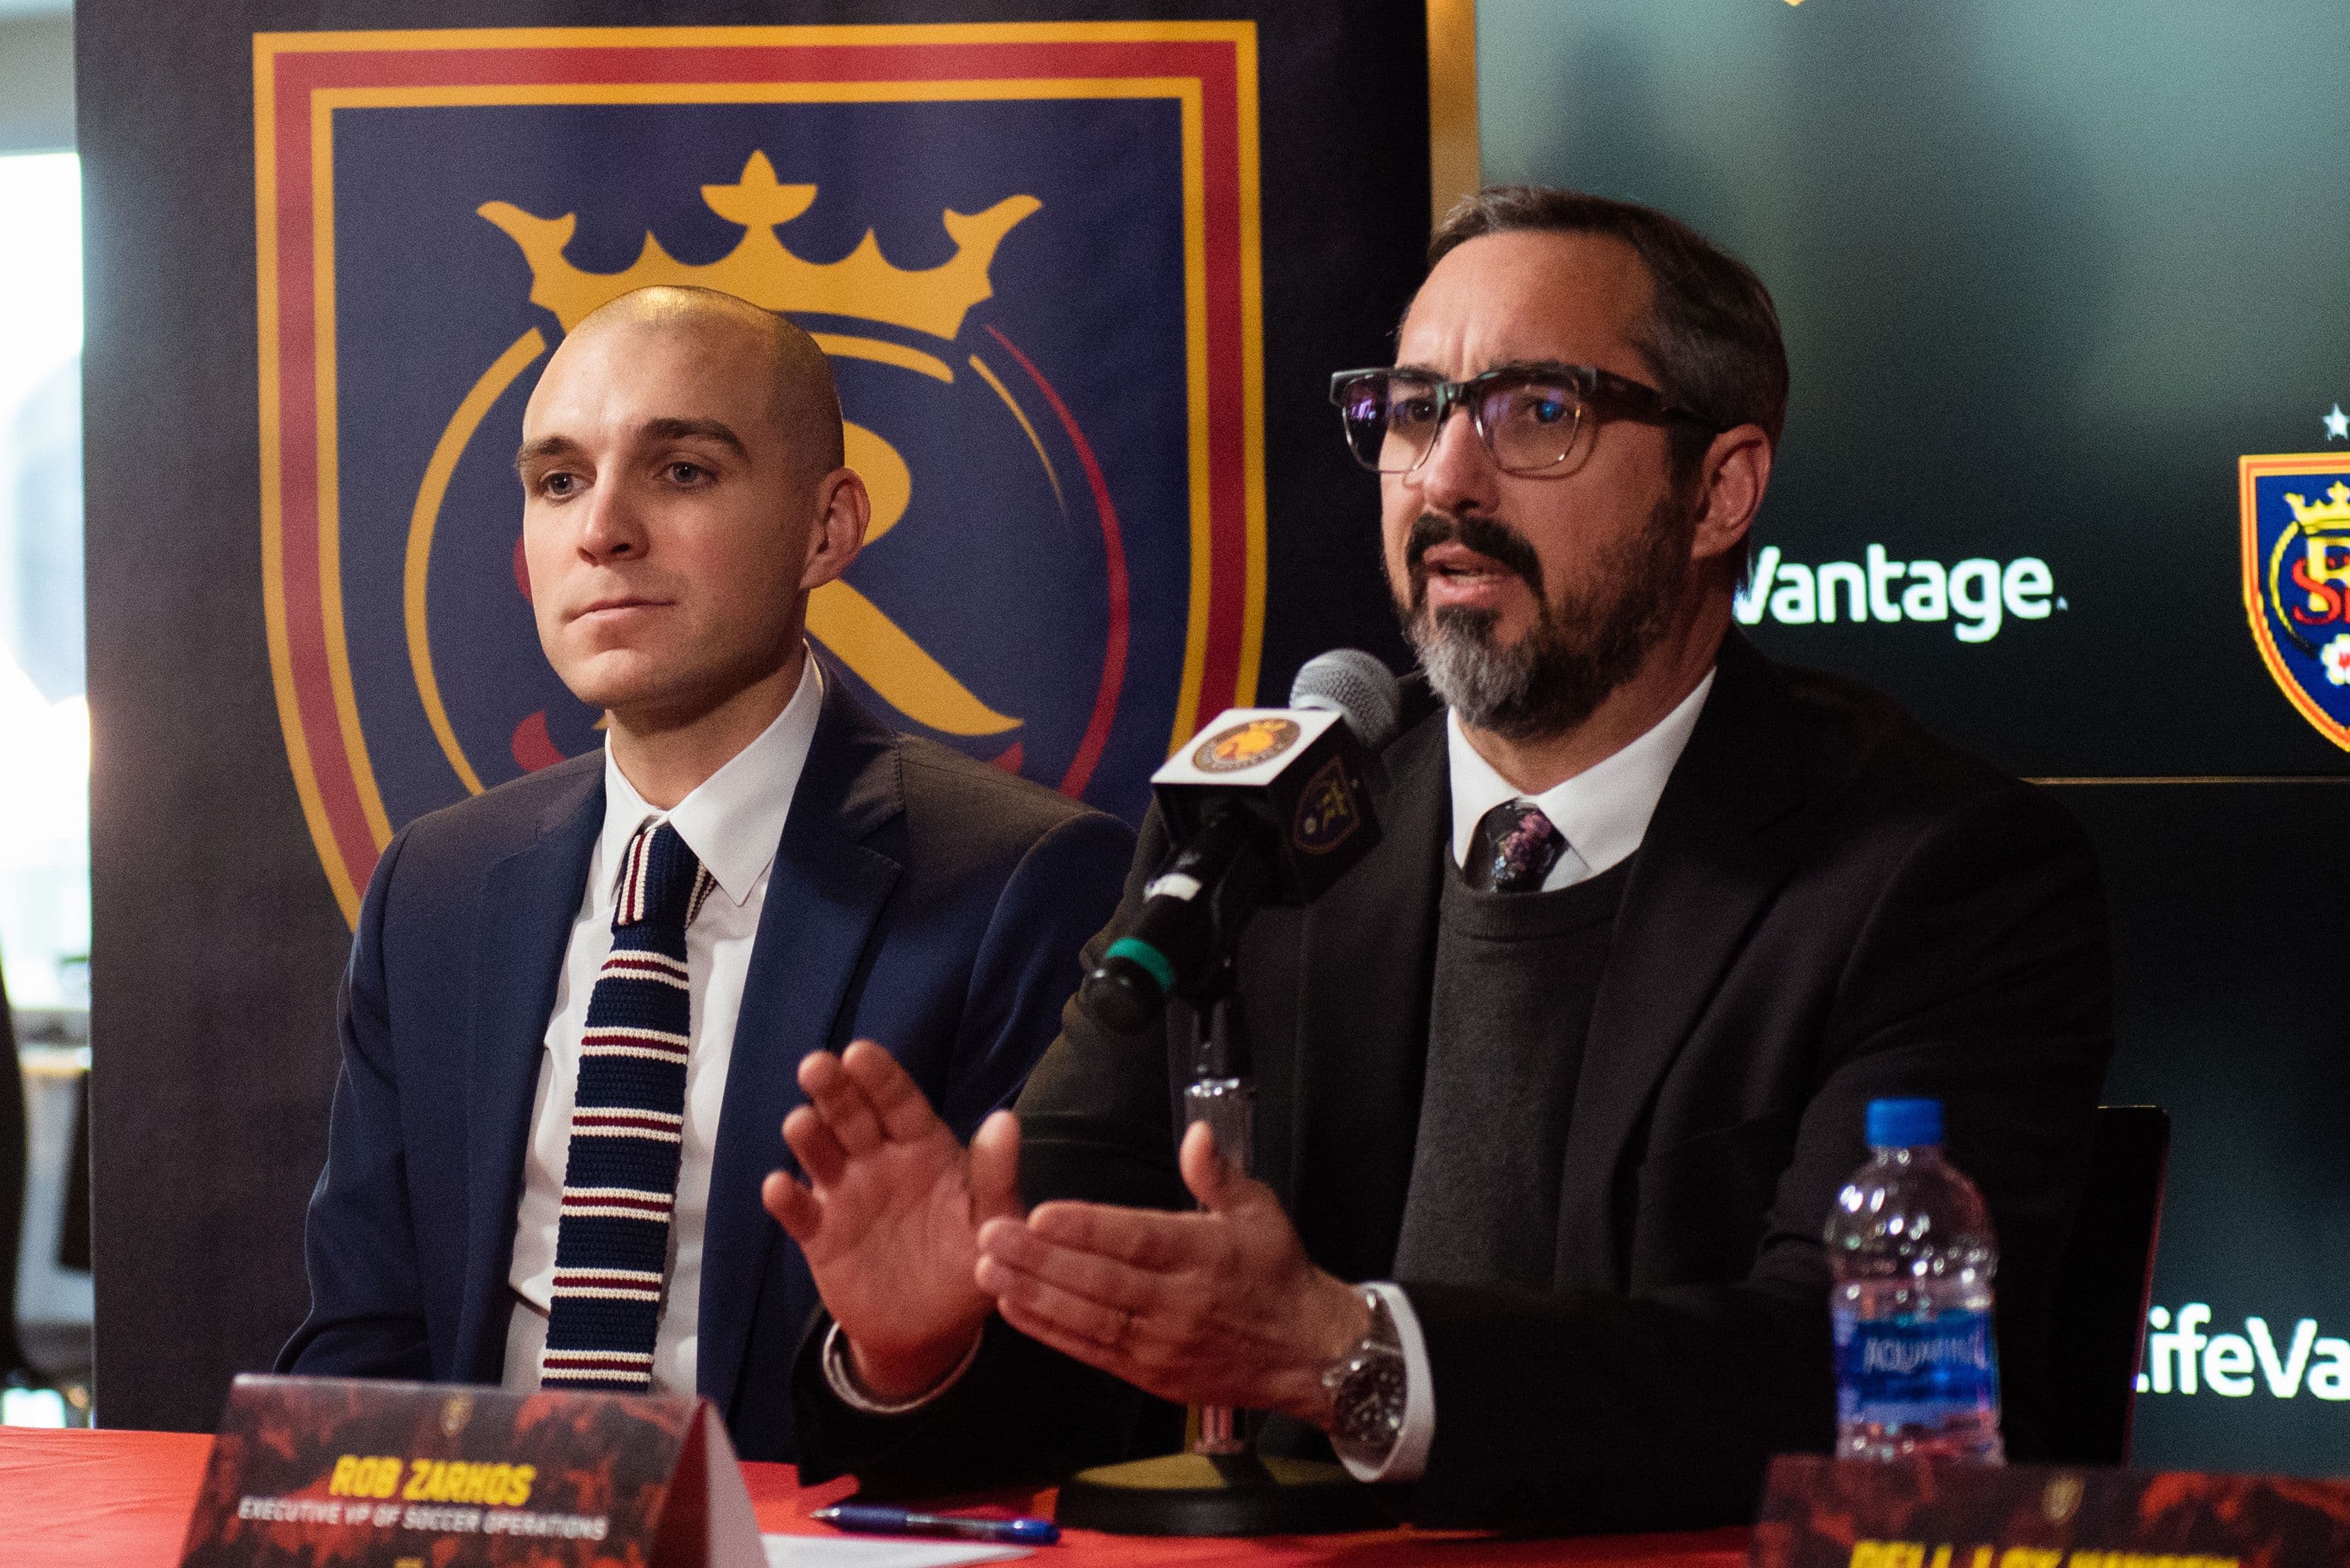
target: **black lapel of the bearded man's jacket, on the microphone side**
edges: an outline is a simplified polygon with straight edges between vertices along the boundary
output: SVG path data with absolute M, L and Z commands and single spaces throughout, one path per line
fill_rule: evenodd
M 1443 717 L 1386 752 L 1379 846 L 1304 917 L 1292 1213 L 1323 1267 L 1382 1279 L 1396 1260 L 1429 1046 L 1452 783 Z

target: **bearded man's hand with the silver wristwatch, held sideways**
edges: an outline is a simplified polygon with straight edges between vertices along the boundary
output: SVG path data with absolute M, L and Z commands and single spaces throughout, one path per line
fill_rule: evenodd
M 1182 1143 L 1201 1213 L 1039 1204 L 980 1232 L 978 1281 L 1003 1321 L 1177 1403 L 1328 1425 L 1325 1366 L 1368 1331 L 1363 1298 L 1314 1267 L 1271 1187 Z

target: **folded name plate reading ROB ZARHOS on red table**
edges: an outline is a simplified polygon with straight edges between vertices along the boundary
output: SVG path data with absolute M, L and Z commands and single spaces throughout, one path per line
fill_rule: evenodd
M 764 1568 L 717 1410 L 691 1394 L 508 1394 L 237 1378 L 186 1568 Z

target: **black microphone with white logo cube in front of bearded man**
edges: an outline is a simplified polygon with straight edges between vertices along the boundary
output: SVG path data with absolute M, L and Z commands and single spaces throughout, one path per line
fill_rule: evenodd
M 1365 776 L 1396 733 L 1396 677 L 1361 649 L 1297 672 L 1288 708 L 1229 708 L 1152 776 L 1175 853 L 1079 1001 L 1133 1034 L 1189 997 L 1262 905 L 1311 903 L 1379 842 Z

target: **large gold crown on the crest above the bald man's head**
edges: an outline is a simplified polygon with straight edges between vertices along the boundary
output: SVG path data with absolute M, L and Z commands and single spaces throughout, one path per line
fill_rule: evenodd
M 1043 207 L 1034 195 L 1008 195 L 987 212 L 942 212 L 954 256 L 942 266 L 905 270 L 881 256 L 881 242 L 870 228 L 853 252 L 825 266 L 787 252 L 776 240 L 776 226 L 815 205 L 815 186 L 778 183 L 766 153 L 752 153 L 733 186 L 703 186 L 703 200 L 710 212 L 743 226 L 743 242 L 731 254 L 710 266 L 689 266 L 663 252 L 660 240 L 644 235 L 644 249 L 625 273 L 583 273 L 564 261 L 578 228 L 576 212 L 540 219 L 512 202 L 484 202 L 477 212 L 522 247 L 522 259 L 531 263 L 531 303 L 552 310 L 564 331 L 630 289 L 667 282 L 719 289 L 764 310 L 855 315 L 952 339 L 964 329 L 964 313 L 994 294 L 987 268 L 996 259 L 996 244 Z

